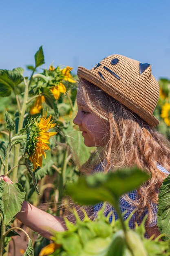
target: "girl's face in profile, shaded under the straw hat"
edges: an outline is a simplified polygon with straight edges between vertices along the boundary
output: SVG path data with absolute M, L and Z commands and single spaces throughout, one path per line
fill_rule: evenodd
M 88 147 L 105 146 L 108 141 L 109 124 L 108 121 L 97 116 L 89 110 L 83 101 L 80 90 L 77 91 L 78 112 L 73 123 L 79 126 L 84 137 L 84 144 Z

